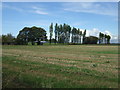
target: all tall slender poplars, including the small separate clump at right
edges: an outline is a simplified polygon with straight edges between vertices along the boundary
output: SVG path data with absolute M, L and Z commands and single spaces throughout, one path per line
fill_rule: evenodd
M 58 25 L 57 23 L 54 26 L 53 30 L 53 23 L 51 23 L 49 27 L 49 32 L 50 32 L 50 43 L 52 40 L 53 32 L 55 33 L 55 43 L 69 43 L 70 38 L 71 38 L 71 43 L 79 43 L 79 44 L 84 44 L 85 38 L 86 38 L 86 29 L 82 32 L 79 28 L 71 28 L 70 25 L 68 24 L 60 24 Z M 110 43 L 110 35 L 106 35 L 103 33 L 99 33 L 99 44 L 105 43 L 109 44 Z

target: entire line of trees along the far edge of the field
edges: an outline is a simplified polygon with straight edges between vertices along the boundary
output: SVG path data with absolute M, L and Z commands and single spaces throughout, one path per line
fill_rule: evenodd
M 87 30 L 80 30 L 79 28 L 71 27 L 68 24 L 51 23 L 49 26 L 49 40 L 47 39 L 46 30 L 41 27 L 24 27 L 19 31 L 15 38 L 12 34 L 2 35 L 2 44 L 5 45 L 42 45 L 42 41 L 49 41 L 49 43 L 63 43 L 63 44 L 110 44 L 110 35 L 99 33 L 99 37 L 86 37 Z M 53 37 L 54 34 L 54 37 Z

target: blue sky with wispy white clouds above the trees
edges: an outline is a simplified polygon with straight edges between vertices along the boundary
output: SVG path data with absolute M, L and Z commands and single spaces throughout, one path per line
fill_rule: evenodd
M 3 34 L 17 36 L 24 27 L 38 26 L 47 33 L 51 22 L 69 24 L 87 30 L 87 36 L 99 32 L 111 35 L 112 42 L 118 36 L 117 2 L 3 2 Z M 49 36 L 49 34 L 48 34 Z

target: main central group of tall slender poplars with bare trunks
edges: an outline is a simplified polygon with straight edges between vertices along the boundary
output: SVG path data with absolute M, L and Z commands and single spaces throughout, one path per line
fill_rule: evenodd
M 68 24 L 60 24 L 58 25 L 57 23 L 55 24 L 55 29 L 54 29 L 54 33 L 55 33 L 55 40 L 54 43 L 63 43 L 63 44 L 69 44 L 70 43 L 70 38 L 71 38 L 71 43 L 74 44 L 82 44 L 81 42 L 81 38 L 82 36 L 86 35 L 86 30 L 84 32 L 84 35 L 82 35 L 82 31 L 80 31 L 80 29 L 78 28 L 71 28 L 70 25 Z M 49 32 L 50 32 L 50 43 L 51 43 L 51 39 L 53 36 L 53 23 L 51 23 L 50 27 L 49 27 Z

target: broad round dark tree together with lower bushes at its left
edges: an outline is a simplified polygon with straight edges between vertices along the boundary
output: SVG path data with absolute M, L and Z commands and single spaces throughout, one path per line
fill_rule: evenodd
M 19 31 L 19 34 L 15 38 L 12 34 L 2 35 L 3 45 L 41 45 L 41 41 L 47 41 L 46 31 L 40 27 L 24 27 Z

